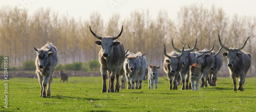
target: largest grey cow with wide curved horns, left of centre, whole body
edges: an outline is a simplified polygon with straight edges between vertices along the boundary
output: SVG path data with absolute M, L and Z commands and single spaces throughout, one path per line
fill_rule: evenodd
M 124 47 L 120 41 L 116 39 L 121 36 L 123 31 L 123 26 L 121 32 L 115 37 L 100 37 L 96 35 L 92 30 L 91 26 L 90 31 L 100 41 L 95 43 L 98 46 L 101 46 L 101 49 L 98 53 L 99 63 L 100 63 L 100 72 L 102 76 L 102 93 L 106 92 L 106 78 L 109 74 L 109 88 L 108 93 L 114 93 L 114 80 L 116 77 L 116 88 L 115 92 L 119 92 L 119 75 L 120 70 L 125 60 L 124 57 Z

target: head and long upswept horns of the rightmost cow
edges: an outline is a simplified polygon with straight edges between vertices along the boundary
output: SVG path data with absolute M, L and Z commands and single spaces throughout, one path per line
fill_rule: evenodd
M 220 45 L 221 45 L 225 50 L 227 50 L 227 52 L 223 52 L 223 53 L 222 53 L 223 57 L 226 57 L 226 56 L 227 56 L 227 61 L 228 61 L 227 66 L 233 67 L 233 64 L 236 63 L 236 59 L 237 59 L 237 58 L 240 58 L 241 55 L 242 55 L 242 54 L 241 54 L 240 52 L 238 52 L 238 51 L 242 50 L 242 49 L 245 47 L 245 44 L 246 44 L 247 40 L 248 40 L 250 37 L 248 37 L 248 38 L 245 40 L 243 46 L 240 47 L 240 48 L 227 48 L 227 47 L 225 47 L 225 46 L 221 43 L 221 39 L 220 39 L 220 35 L 219 35 L 219 34 L 218 34 L 218 36 L 219 36 Z

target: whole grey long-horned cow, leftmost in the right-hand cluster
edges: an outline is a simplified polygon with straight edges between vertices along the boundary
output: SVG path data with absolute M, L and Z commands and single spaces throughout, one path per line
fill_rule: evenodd
M 186 44 L 185 44 L 186 45 Z M 163 69 L 166 73 L 169 81 L 169 90 L 177 90 L 177 78 L 180 75 L 180 71 L 182 69 L 182 55 L 184 51 L 184 46 L 182 48 L 182 52 L 178 53 L 175 51 L 166 53 L 165 44 L 164 44 L 164 61 L 163 61 Z

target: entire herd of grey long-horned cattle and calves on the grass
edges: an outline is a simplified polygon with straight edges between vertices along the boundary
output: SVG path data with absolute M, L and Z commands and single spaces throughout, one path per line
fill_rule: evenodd
M 90 27 L 90 26 L 89 26 Z M 98 53 L 99 63 L 101 64 L 100 72 L 102 76 L 102 93 L 106 91 L 106 79 L 109 81 L 108 93 L 119 92 L 119 89 L 125 89 L 125 83 L 127 81 L 127 89 L 141 89 L 141 83 L 143 81 L 145 69 L 146 69 L 146 57 L 141 52 L 132 53 L 124 50 L 123 43 L 116 39 L 121 36 L 121 32 L 115 37 L 100 37 L 96 35 L 90 27 L 91 33 L 99 39 L 95 43 L 101 46 Z M 197 40 L 193 48 L 178 49 L 174 46 L 173 39 L 172 45 L 176 51 L 166 53 L 164 45 L 165 59 L 163 62 L 163 69 L 168 76 L 169 90 L 177 90 L 178 78 L 181 78 L 182 88 L 181 90 L 199 90 L 201 81 L 201 87 L 207 87 L 207 83 L 210 86 L 216 86 L 217 72 L 221 69 L 222 61 L 220 50 L 224 48 L 227 52 L 222 53 L 224 57 L 228 58 L 228 69 L 230 76 L 233 80 L 233 91 L 237 91 L 237 80 L 239 79 L 238 90 L 243 91 L 243 83 L 245 76 L 251 65 L 251 55 L 242 49 L 249 37 L 240 48 L 227 48 L 225 47 L 219 36 L 219 43 L 221 48 L 216 53 L 212 51 L 214 46 L 210 50 L 199 50 L 196 48 Z M 57 49 L 52 43 L 48 42 L 40 49 L 36 49 L 36 74 L 41 86 L 40 96 L 45 98 L 51 94 L 51 82 L 52 74 L 57 65 Z M 194 51 L 197 49 L 198 51 Z M 156 65 L 150 65 L 148 67 L 148 89 L 153 89 L 155 83 L 155 89 L 157 89 L 158 82 L 158 69 L 160 67 Z M 119 85 L 119 76 L 121 75 L 121 85 Z M 116 78 L 115 89 L 114 80 Z M 190 83 L 188 81 L 190 79 Z M 67 74 L 60 70 L 60 81 L 68 81 Z M 48 84 L 47 94 L 46 86 Z M 191 86 L 190 86 L 191 85 Z

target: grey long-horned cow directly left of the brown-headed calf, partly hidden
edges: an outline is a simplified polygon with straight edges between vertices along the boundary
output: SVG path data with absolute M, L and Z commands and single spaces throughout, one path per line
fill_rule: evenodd
M 172 45 L 176 51 L 181 53 L 181 50 L 179 50 L 178 48 L 176 48 L 174 46 L 173 39 L 172 39 Z M 182 66 L 182 70 L 180 71 L 180 77 L 182 80 L 181 90 L 188 90 L 189 65 L 196 63 L 196 53 L 192 52 L 196 48 L 196 45 L 197 45 L 197 39 L 196 39 L 196 43 L 193 48 L 185 49 L 183 52 L 183 55 L 182 55 L 182 65 L 183 66 Z M 186 75 L 186 77 L 185 77 L 185 75 Z M 186 86 L 185 86 L 185 81 L 186 81 Z

